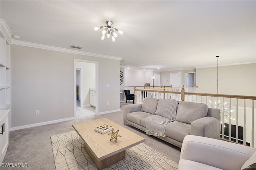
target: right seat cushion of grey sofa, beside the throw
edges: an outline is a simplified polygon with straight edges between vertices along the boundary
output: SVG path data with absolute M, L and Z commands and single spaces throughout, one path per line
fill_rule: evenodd
M 166 125 L 165 131 L 167 137 L 183 142 L 184 137 L 190 134 L 190 125 L 174 121 Z

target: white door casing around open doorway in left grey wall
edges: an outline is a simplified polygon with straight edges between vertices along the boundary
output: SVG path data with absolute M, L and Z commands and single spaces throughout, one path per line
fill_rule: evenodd
M 95 64 L 95 89 L 96 89 L 96 105 L 95 105 L 95 114 L 98 115 L 99 110 L 99 63 L 98 61 L 88 61 L 83 59 L 74 59 L 74 119 L 76 119 L 76 63 L 85 62 L 85 63 L 94 63 Z

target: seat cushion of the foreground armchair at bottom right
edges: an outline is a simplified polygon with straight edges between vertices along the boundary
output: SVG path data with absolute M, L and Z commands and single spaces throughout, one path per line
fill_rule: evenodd
M 179 170 L 221 170 L 210 165 L 202 164 L 192 160 L 181 159 L 179 161 Z

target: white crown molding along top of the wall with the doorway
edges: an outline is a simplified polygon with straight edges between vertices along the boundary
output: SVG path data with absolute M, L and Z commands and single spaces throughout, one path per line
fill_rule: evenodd
M 6 24 L 6 21 L 1 19 L 0 23 L 1 23 L 1 27 L 0 27 L 1 32 L 5 36 L 5 38 L 8 40 L 8 43 L 10 43 L 10 44 L 22 45 L 22 46 L 26 46 L 26 47 L 41 48 L 41 49 L 48 49 L 48 50 L 53 50 L 53 51 L 65 52 L 65 53 L 87 55 L 87 56 L 92 56 L 92 57 L 114 59 L 114 60 L 119 60 L 119 61 L 121 61 L 121 59 L 122 59 L 122 57 L 115 57 L 115 56 L 111 56 L 111 55 L 90 53 L 90 52 L 85 52 L 85 51 L 77 51 L 74 49 L 67 49 L 67 48 L 61 48 L 61 47 L 54 47 L 54 46 L 50 46 L 50 45 L 43 45 L 43 44 L 38 44 L 38 43 L 31 43 L 31 42 L 15 40 L 14 38 L 12 38 L 12 32 L 10 31 L 8 25 Z

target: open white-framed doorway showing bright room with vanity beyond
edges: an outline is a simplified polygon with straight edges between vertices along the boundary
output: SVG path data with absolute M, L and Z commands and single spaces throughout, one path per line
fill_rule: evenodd
M 97 114 L 98 62 L 74 59 L 74 85 L 74 118 Z

